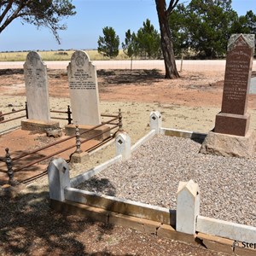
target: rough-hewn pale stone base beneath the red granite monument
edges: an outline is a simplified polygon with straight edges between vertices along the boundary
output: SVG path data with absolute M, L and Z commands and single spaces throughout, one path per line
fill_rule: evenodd
M 200 153 L 250 158 L 255 154 L 255 139 L 255 131 L 248 131 L 245 137 L 210 131 Z

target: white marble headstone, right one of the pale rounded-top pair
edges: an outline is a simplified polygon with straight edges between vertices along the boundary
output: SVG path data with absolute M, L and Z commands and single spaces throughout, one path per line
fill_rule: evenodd
M 96 67 L 84 51 L 75 51 L 67 67 L 74 125 L 99 125 Z

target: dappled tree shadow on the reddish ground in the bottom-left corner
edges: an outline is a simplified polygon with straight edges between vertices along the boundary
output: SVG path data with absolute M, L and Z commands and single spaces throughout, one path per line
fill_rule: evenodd
M 113 255 L 100 248 L 86 253 L 90 243 L 106 242 L 113 226 L 55 212 L 48 192 L 37 189 L 12 197 L 0 190 L 0 255 Z

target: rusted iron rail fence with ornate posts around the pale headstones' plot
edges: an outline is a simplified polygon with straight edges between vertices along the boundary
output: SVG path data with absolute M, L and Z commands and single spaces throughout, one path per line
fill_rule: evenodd
M 69 109 L 69 107 L 68 107 Z M 70 112 L 70 109 L 67 110 L 67 112 L 59 112 L 59 111 L 55 111 L 55 113 L 68 113 L 70 114 L 68 116 L 68 122 L 70 121 L 71 122 L 71 112 Z M 0 157 L 0 162 L 5 162 L 6 166 L 7 166 L 7 171 L 1 171 L 0 172 L 4 172 L 4 173 L 7 173 L 8 177 L 9 177 L 9 184 L 11 185 L 15 185 L 17 183 L 17 181 L 15 181 L 15 172 L 20 172 L 30 166 L 34 166 L 40 162 L 42 162 L 43 160 L 48 160 L 50 159 L 51 157 L 57 155 L 57 154 L 61 154 L 71 148 L 75 148 L 75 151 L 76 153 L 81 153 L 82 150 L 80 148 L 81 144 L 83 143 L 86 143 L 86 142 L 89 142 L 90 140 L 93 140 L 93 139 L 96 139 L 97 137 L 101 137 L 104 133 L 107 133 L 109 131 L 114 131 L 113 134 L 107 138 L 105 138 L 104 140 L 102 140 L 101 142 L 97 143 L 96 145 L 86 149 L 86 152 L 90 152 L 91 150 L 97 148 L 97 147 L 100 147 L 103 143 L 106 143 L 108 141 L 110 141 L 111 139 L 113 139 L 115 133 L 117 131 L 122 131 L 122 114 L 121 114 L 121 111 L 119 109 L 119 113 L 118 115 L 108 115 L 108 114 L 102 114 L 102 117 L 103 118 L 110 118 L 104 122 L 102 122 L 102 124 L 100 125 L 96 125 L 92 128 L 90 128 L 89 130 L 87 131 L 83 131 L 83 132 L 79 132 L 79 126 L 77 125 L 76 126 L 76 133 L 75 135 L 71 136 L 71 137 L 67 137 L 67 138 L 64 138 L 64 139 L 61 139 L 55 143 L 50 143 L 42 148 L 38 148 L 38 149 L 35 149 L 35 150 L 32 150 L 30 152 L 26 152 L 24 154 L 20 154 L 19 156 L 16 156 L 14 158 L 11 157 L 11 154 L 10 154 L 10 150 L 9 148 L 6 148 L 5 151 L 6 151 L 6 154 L 4 157 Z M 103 125 L 108 125 L 108 129 L 105 130 L 105 131 L 102 131 L 102 132 L 97 132 L 96 135 L 93 135 L 93 136 L 89 136 L 88 134 L 90 133 L 90 131 L 95 131 L 97 128 L 100 128 L 102 127 Z M 81 139 L 80 136 L 81 135 L 85 135 L 86 136 L 88 135 L 87 138 L 85 139 Z M 29 164 L 27 164 L 26 166 L 20 166 L 18 168 L 16 168 L 15 170 L 13 170 L 13 166 L 14 166 L 14 163 L 15 161 L 17 160 L 20 160 L 20 159 L 23 159 L 23 158 L 26 158 L 28 156 L 32 157 L 33 154 L 36 154 L 40 151 L 43 151 L 44 149 L 47 149 L 47 148 L 53 148 L 55 147 L 55 145 L 57 144 L 60 144 L 60 143 L 64 143 L 64 142 L 67 142 L 68 140 L 72 140 L 75 138 L 75 143 L 73 143 L 71 146 L 68 146 L 67 148 L 62 148 L 61 150 L 57 151 L 57 152 L 54 152 L 52 154 L 48 154 L 48 155 L 45 155 L 44 157 L 38 159 L 38 160 L 34 160 L 32 162 L 30 162 Z M 43 172 L 40 174 L 40 176 L 42 174 L 45 174 L 47 171 Z M 31 181 L 32 178 L 28 178 L 26 180 L 23 180 L 22 183 L 27 183 L 29 181 Z

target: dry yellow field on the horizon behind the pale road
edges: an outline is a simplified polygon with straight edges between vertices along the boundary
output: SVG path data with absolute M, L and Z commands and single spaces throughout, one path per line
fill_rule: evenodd
M 85 50 L 90 56 L 91 61 L 103 61 L 110 60 L 108 57 L 104 57 L 99 54 L 96 49 Z M 71 55 L 74 50 L 61 50 L 61 51 L 38 51 L 43 61 L 70 61 Z M 28 52 L 8 52 L 0 53 L 0 61 L 26 61 L 26 55 Z M 123 50 L 119 50 L 119 55 L 114 60 L 126 60 L 127 55 L 124 54 Z

